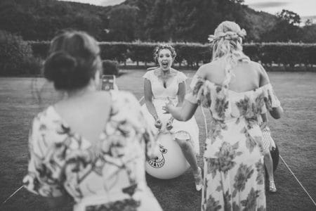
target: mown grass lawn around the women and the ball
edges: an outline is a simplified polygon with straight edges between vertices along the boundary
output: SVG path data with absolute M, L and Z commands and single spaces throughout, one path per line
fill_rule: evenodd
M 184 71 L 188 77 L 193 71 Z M 129 90 L 137 98 L 143 96 L 144 74 L 141 70 L 124 70 L 117 79 L 121 90 Z M 296 177 L 316 200 L 316 73 L 312 72 L 270 72 L 284 108 L 281 120 L 272 120 L 270 129 L 279 146 L 280 155 L 286 160 Z M 34 83 L 37 82 L 37 83 Z M 34 87 L 41 88 L 41 101 L 34 94 Z M 34 86 L 35 85 L 35 86 Z M 27 173 L 27 134 L 36 113 L 58 96 L 51 84 L 44 79 L 0 78 L 0 202 L 22 185 Z M 208 117 L 209 114 L 207 113 Z M 205 139 L 204 120 L 201 110 L 195 114 L 200 129 L 202 165 Z M 275 172 L 277 193 L 267 192 L 268 210 L 316 210 L 301 186 L 291 176 L 282 161 Z M 159 180 L 147 176 L 147 182 L 164 210 L 200 210 L 201 192 L 195 191 L 192 172 L 171 180 Z M 43 198 L 20 190 L 0 210 L 47 210 Z M 68 205 L 63 210 L 72 210 Z

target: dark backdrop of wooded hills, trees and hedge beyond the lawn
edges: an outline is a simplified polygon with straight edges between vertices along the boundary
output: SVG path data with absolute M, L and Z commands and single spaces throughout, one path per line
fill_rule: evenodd
M 179 65 L 183 62 L 193 68 L 210 59 L 209 48 L 199 45 L 206 43 L 208 35 L 223 20 L 235 21 L 247 31 L 245 41 L 250 45 L 244 50 L 254 60 L 289 68 L 304 64 L 305 70 L 315 65 L 315 46 L 254 43 L 316 43 L 316 25 L 308 21 L 299 27 L 301 18 L 294 12 L 270 15 L 243 3 L 244 0 L 126 0 L 103 7 L 57 0 L 1 0 L 0 75 L 37 75 L 46 55 L 41 50 L 47 50 L 47 41 L 65 29 L 84 30 L 98 41 L 110 41 L 100 44 L 103 59 L 121 63 L 129 58 L 146 65 L 152 61 L 152 45 L 169 41 L 177 46 Z

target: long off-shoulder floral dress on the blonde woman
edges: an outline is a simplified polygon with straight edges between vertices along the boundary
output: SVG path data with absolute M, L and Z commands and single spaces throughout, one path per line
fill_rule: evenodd
M 271 84 L 237 93 L 197 75 L 186 99 L 209 108 L 202 210 L 265 210 L 263 135 L 257 117 L 280 103 Z

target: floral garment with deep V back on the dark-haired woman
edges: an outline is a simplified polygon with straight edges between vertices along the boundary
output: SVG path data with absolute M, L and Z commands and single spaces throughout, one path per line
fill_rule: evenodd
M 34 118 L 25 187 L 46 197 L 69 194 L 74 210 L 162 210 L 145 181 L 145 157 L 159 153 L 137 99 L 111 91 L 110 120 L 97 146 L 48 107 Z

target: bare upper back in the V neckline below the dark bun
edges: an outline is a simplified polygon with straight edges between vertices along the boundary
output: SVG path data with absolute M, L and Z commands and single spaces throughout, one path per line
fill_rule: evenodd
M 72 132 L 96 143 L 110 117 L 111 96 L 99 91 L 60 101 L 54 108 Z

